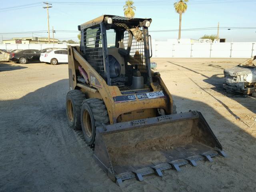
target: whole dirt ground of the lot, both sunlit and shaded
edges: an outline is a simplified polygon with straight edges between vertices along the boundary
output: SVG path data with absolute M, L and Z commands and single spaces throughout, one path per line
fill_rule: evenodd
M 223 70 L 244 59 L 158 58 L 157 69 L 178 112 L 198 110 L 228 158 L 112 182 L 68 127 L 68 65 L 0 64 L 0 191 L 2 192 L 255 192 L 256 98 L 222 88 Z

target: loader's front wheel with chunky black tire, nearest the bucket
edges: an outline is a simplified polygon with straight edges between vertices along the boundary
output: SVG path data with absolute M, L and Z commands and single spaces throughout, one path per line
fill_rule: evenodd
M 86 126 L 87 114 L 90 115 L 91 128 Z M 81 127 L 84 134 L 85 142 L 90 146 L 94 147 L 96 127 L 102 126 L 102 124 L 109 124 L 108 111 L 104 101 L 98 98 L 90 98 L 84 100 L 81 108 Z

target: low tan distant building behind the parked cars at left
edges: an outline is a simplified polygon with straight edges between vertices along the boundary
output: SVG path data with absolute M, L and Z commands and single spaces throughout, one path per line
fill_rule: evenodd
M 54 44 L 58 44 L 59 40 L 54 38 Z M 3 44 L 48 44 L 48 38 L 44 37 L 24 37 L 12 38 L 10 40 L 3 40 Z M 50 44 L 53 44 L 53 39 L 50 38 Z

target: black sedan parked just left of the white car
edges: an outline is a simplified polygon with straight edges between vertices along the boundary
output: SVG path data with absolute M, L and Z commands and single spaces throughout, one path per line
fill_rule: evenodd
M 12 61 L 26 64 L 31 62 L 40 62 L 40 51 L 35 49 L 25 49 L 18 51 L 16 53 L 12 53 Z

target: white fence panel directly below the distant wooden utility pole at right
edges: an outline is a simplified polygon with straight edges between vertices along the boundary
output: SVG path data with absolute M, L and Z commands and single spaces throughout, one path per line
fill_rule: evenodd
M 230 43 L 213 43 L 210 57 L 228 58 L 230 57 L 230 53 Z

